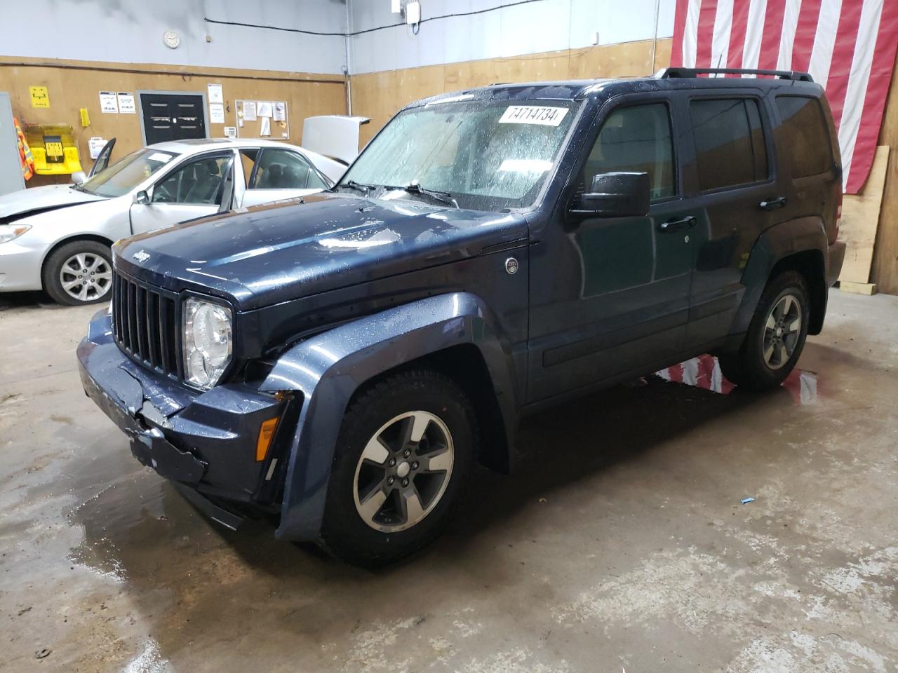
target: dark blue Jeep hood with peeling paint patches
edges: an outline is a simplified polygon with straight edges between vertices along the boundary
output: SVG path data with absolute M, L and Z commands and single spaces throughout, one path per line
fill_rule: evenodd
M 475 257 L 526 236 L 521 214 L 323 193 L 142 234 L 115 252 L 128 275 L 251 310 Z

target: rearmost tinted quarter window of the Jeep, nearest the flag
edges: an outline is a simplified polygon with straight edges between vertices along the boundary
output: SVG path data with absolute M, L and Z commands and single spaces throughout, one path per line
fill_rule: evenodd
M 777 96 L 776 100 L 782 122 L 777 140 L 791 159 L 792 177 L 804 178 L 830 170 L 830 132 L 820 101 L 804 96 Z

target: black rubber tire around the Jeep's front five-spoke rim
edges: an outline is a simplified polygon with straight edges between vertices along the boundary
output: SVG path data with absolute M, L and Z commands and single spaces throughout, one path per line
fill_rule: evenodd
M 357 498 L 362 500 L 361 495 L 357 496 L 361 491 L 361 486 L 357 491 L 357 474 L 359 485 L 363 469 L 371 472 L 372 484 L 379 483 L 368 489 L 367 493 L 390 491 L 387 500 L 384 501 L 385 508 L 375 515 L 387 520 L 384 526 L 388 526 L 392 518 L 383 512 L 389 512 L 392 503 L 397 507 L 400 506 L 402 494 L 408 493 L 406 489 L 400 490 L 399 475 L 392 475 L 392 472 L 387 471 L 400 469 L 402 463 L 398 463 L 397 468 L 388 468 L 389 461 L 399 459 L 406 462 L 407 466 L 418 465 L 417 462 L 409 461 L 415 459 L 419 450 L 420 455 L 424 456 L 428 446 L 432 450 L 437 445 L 430 444 L 431 440 L 422 439 L 406 460 L 402 458 L 402 443 L 397 436 L 394 442 L 388 442 L 390 450 L 387 451 L 388 458 L 384 459 L 383 465 L 362 461 L 362 454 L 369 442 L 375 437 L 383 439 L 389 433 L 389 430 L 383 430 L 385 424 L 393 422 L 394 425 L 389 425 L 390 428 L 401 424 L 403 421 L 394 419 L 411 412 L 424 412 L 436 416 L 448 430 L 450 441 L 445 443 L 451 446 L 453 452 L 453 462 L 448 470 L 448 476 L 445 477 L 448 483 L 442 490 L 437 487 L 436 491 L 431 491 L 440 493 L 433 495 L 435 500 L 432 509 L 429 509 L 417 523 L 408 524 L 407 520 L 406 525 L 409 525 L 409 528 L 374 529 L 373 525 L 377 521 L 369 524 L 363 519 L 359 509 L 362 505 L 357 505 Z M 437 437 L 442 436 L 444 426 L 428 422 L 425 437 L 432 439 L 434 432 L 438 433 Z M 400 428 L 399 433 L 401 432 Z M 462 389 L 443 374 L 427 369 L 401 371 L 369 386 L 350 404 L 340 427 L 321 526 L 321 546 L 339 559 L 363 567 L 388 564 L 427 546 L 445 528 L 456 506 L 462 500 L 471 475 L 477 436 L 476 415 L 471 402 Z M 411 445 L 406 443 L 404 446 Z M 393 452 L 393 448 L 396 448 L 396 452 Z M 429 473 L 423 468 L 423 459 L 421 466 L 418 474 L 413 472 L 409 475 L 412 489 L 416 485 L 421 486 L 422 480 L 425 487 L 433 484 L 436 473 Z M 391 475 L 396 480 L 395 485 L 387 486 L 387 479 Z M 423 489 L 418 502 L 427 503 Z M 406 512 L 395 510 L 395 520 L 398 522 L 395 525 L 401 525 L 403 514 L 409 510 Z

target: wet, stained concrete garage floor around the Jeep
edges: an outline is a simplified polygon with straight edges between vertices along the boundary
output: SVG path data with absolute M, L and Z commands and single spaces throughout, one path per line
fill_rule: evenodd
M 898 298 L 832 291 L 788 390 L 534 418 L 376 573 L 193 511 L 84 397 L 93 309 L 45 301 L 0 296 L 4 671 L 898 670 Z

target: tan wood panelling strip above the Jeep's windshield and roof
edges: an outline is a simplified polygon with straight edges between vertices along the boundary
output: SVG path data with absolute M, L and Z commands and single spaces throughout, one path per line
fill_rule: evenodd
M 354 74 L 349 79 L 352 113 L 371 118 L 361 129 L 365 144 L 404 105 L 436 93 L 497 82 L 626 77 L 655 72 L 670 63 L 671 39 L 568 49 L 521 57 L 487 58 L 442 66 L 422 66 L 381 73 Z

